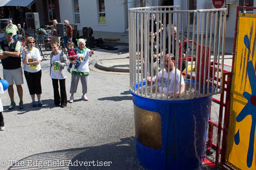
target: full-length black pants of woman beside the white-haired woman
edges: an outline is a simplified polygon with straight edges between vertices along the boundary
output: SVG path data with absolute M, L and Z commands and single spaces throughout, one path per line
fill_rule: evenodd
M 58 86 L 59 81 L 59 86 Z M 67 106 L 67 93 L 66 93 L 66 79 L 52 79 L 53 85 L 53 94 L 54 94 L 54 104 L 59 106 Z M 60 96 L 59 96 L 59 88 L 60 88 Z

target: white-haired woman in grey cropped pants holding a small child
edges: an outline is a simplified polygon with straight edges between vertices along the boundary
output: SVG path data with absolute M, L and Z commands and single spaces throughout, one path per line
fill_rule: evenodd
M 74 102 L 74 93 L 76 93 L 77 86 L 79 79 L 81 79 L 82 83 L 82 100 L 88 101 L 88 98 L 86 96 L 87 89 L 88 89 L 88 76 L 90 74 L 89 70 L 89 56 L 92 56 L 94 54 L 94 51 L 91 51 L 89 48 L 86 47 L 86 41 L 84 39 L 80 38 L 77 41 L 78 48 L 75 48 L 74 50 L 77 53 L 77 58 L 81 62 L 79 65 L 77 71 L 72 71 L 72 77 L 71 77 L 71 86 L 70 86 L 70 103 Z M 70 60 L 70 62 L 73 64 L 72 68 L 75 67 L 76 61 Z

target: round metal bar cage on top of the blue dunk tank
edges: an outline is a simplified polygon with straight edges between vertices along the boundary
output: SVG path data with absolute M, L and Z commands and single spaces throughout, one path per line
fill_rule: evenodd
M 226 9 L 129 9 L 130 91 L 156 100 L 188 100 L 221 93 L 225 28 Z M 176 69 L 172 69 L 170 54 L 175 57 Z M 164 58 L 168 58 L 168 68 Z M 149 77 L 155 77 L 154 82 L 147 81 Z

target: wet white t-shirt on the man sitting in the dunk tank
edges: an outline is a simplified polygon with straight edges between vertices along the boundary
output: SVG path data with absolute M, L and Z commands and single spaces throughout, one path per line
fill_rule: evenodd
M 163 74 L 162 74 L 163 72 Z M 162 79 L 163 76 L 163 79 Z M 157 87 L 158 91 L 162 91 L 162 82 L 163 82 L 163 93 L 167 93 L 168 86 L 168 72 L 165 69 L 158 72 L 157 75 Z M 153 82 L 156 83 L 156 76 L 153 77 Z M 169 72 L 169 89 L 168 93 L 173 93 L 174 91 L 174 82 L 175 82 L 175 69 Z M 185 84 L 183 77 L 181 78 L 181 85 Z M 175 85 L 175 93 L 180 90 L 180 70 L 176 69 L 176 85 Z

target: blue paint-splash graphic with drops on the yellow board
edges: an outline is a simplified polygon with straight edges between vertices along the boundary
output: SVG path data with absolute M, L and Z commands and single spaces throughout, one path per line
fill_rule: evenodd
M 246 35 L 247 36 L 247 35 Z M 247 39 L 247 38 L 244 39 Z M 246 45 L 246 44 L 245 44 Z M 247 47 L 248 48 L 248 47 Z M 249 48 L 248 48 L 249 49 Z M 252 61 L 248 62 L 248 69 L 247 74 L 249 78 L 249 82 L 251 85 L 251 93 L 243 92 L 243 96 L 245 99 L 247 99 L 248 103 L 245 105 L 243 110 L 239 113 L 236 120 L 237 122 L 241 122 L 246 116 L 251 115 L 251 131 L 250 131 L 250 137 L 249 137 L 249 147 L 247 152 L 247 166 L 251 167 L 252 159 L 253 159 L 253 151 L 254 151 L 254 135 L 255 135 L 255 125 L 256 125 L 256 112 L 253 110 L 256 110 L 256 75 L 255 70 L 252 64 Z M 238 131 L 239 132 L 239 131 Z M 237 133 L 234 137 L 234 142 L 237 144 L 239 133 Z

